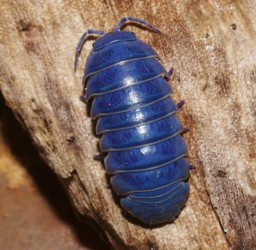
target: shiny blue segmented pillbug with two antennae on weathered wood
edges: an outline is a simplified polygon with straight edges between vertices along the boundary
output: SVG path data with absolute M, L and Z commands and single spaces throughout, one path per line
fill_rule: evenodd
M 121 31 L 124 17 L 113 32 L 88 30 L 82 35 L 75 57 L 87 35 L 101 35 L 84 68 L 86 96 L 93 98 L 91 117 L 96 133 L 103 134 L 100 148 L 108 152 L 104 164 L 122 207 L 150 225 L 172 221 L 187 200 L 189 165 L 181 133 L 187 131 L 175 116 L 184 103 L 175 104 L 167 72 L 152 47 L 134 32 Z

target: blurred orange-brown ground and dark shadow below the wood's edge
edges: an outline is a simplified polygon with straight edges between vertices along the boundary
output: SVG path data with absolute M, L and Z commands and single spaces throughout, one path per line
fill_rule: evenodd
M 109 250 L 91 226 L 76 220 L 56 175 L 1 93 L 0 106 L 0 249 Z

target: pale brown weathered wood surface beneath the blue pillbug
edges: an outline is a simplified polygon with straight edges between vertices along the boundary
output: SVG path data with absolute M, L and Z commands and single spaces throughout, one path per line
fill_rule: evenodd
M 75 210 L 99 224 L 116 249 L 254 249 L 255 1 L 1 1 L 1 91 L 60 177 Z M 172 224 L 146 227 L 123 213 L 97 153 L 73 58 L 85 29 L 110 31 L 123 16 L 152 22 L 157 35 L 127 26 L 152 44 L 168 69 L 189 160 L 186 207 Z

